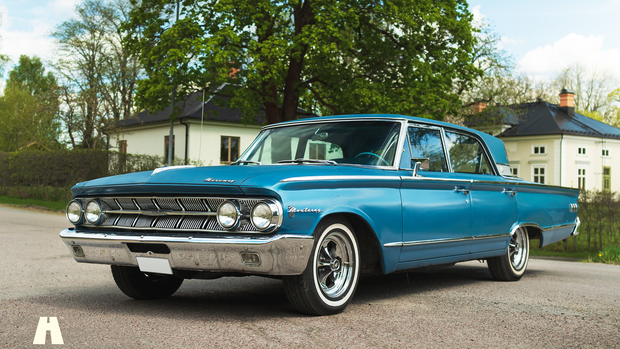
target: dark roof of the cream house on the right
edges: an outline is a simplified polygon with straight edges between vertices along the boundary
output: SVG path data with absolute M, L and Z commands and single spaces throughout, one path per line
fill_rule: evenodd
M 510 129 L 505 130 L 496 137 L 513 137 L 525 135 L 582 135 L 600 138 L 620 139 L 620 129 L 605 124 L 590 117 L 578 114 L 569 116 L 560 110 L 557 104 L 550 104 L 544 101 L 508 106 L 514 114 L 501 113 L 498 117 L 499 122 L 511 124 Z M 498 113 L 494 113 L 499 116 Z M 518 116 L 516 119 L 513 115 Z M 510 117 L 507 117 L 510 115 Z M 470 120 L 467 124 L 472 125 Z

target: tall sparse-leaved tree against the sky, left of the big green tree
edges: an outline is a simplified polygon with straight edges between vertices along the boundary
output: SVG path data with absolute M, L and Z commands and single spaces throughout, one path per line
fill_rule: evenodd
M 74 148 L 104 146 L 104 128 L 130 117 L 141 68 L 122 45 L 129 33 L 126 1 L 86 0 L 76 17 L 56 27 L 54 66 L 61 75 L 61 116 Z

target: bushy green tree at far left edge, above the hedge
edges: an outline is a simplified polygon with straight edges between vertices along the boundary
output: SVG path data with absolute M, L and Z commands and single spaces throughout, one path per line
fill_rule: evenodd
M 0 147 L 59 148 L 58 86 L 38 57 L 22 55 L 0 97 Z

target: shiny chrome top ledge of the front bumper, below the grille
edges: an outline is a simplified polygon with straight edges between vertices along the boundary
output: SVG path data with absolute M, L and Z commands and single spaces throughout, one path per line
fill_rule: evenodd
M 314 240 L 312 235 L 294 235 L 294 234 L 278 234 L 272 237 L 243 237 L 243 236 L 226 236 L 218 235 L 213 237 L 167 237 L 167 236 L 151 236 L 151 235 L 123 235 L 113 232 L 96 232 L 86 233 L 82 231 L 64 229 L 60 232 L 61 238 L 83 238 L 92 240 L 113 240 L 113 241 L 129 241 L 129 242 L 188 242 L 188 243 L 229 243 L 234 245 L 263 245 L 281 238 L 304 238 Z

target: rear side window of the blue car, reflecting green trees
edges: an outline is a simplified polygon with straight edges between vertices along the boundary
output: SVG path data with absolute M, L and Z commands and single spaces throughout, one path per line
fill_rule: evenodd
M 454 172 L 492 174 L 482 145 L 474 137 L 446 132 L 446 147 Z

